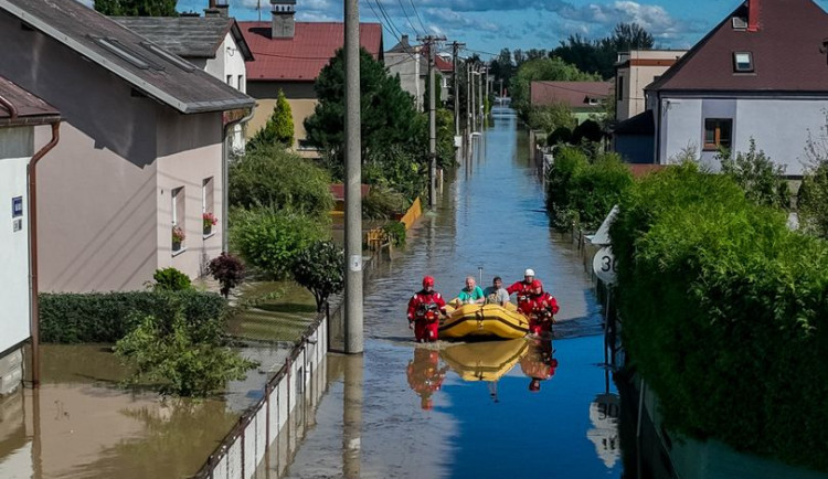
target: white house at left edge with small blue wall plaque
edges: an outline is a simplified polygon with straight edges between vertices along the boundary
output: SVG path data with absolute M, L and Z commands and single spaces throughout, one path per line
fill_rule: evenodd
M 0 396 L 13 392 L 23 377 L 23 343 L 31 337 L 30 203 L 32 157 L 42 158 L 54 145 L 38 145 L 34 130 L 57 125 L 57 110 L 0 76 Z M 54 139 L 54 137 L 52 137 Z M 36 159 L 36 158 L 35 158 Z

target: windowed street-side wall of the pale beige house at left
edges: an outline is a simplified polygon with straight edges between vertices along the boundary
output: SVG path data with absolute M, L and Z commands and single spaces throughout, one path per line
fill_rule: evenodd
M 205 264 L 221 254 L 222 235 L 222 134 L 220 114 L 182 116 L 166 111 L 158 121 L 156 201 L 158 204 L 158 268 L 174 267 L 190 277 L 203 274 Z M 203 204 L 204 180 L 212 178 L 212 202 Z M 183 248 L 172 252 L 171 191 L 184 188 L 184 219 L 179 226 L 187 238 Z M 209 235 L 203 234 L 202 212 L 219 220 Z

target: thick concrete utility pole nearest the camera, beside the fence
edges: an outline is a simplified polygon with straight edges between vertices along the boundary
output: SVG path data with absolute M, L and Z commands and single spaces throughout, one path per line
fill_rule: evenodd
M 361 353 L 362 330 L 362 145 L 360 138 L 359 0 L 344 0 L 346 56 L 346 317 L 344 350 Z

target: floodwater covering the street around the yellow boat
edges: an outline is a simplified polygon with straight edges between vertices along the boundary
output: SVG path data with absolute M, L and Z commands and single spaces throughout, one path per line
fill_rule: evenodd
M 578 253 L 549 227 L 542 179 L 509 113 L 495 117 L 406 253 L 378 266 L 364 355 L 329 358 L 343 374 L 289 477 L 622 477 L 601 307 Z M 511 284 L 528 267 L 561 305 L 553 341 L 412 341 L 405 305 L 424 275 L 452 298 L 467 275 Z

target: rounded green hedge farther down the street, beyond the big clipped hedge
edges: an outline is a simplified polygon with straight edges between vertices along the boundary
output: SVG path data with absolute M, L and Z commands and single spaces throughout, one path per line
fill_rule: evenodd
M 559 147 L 546 174 L 546 209 L 552 224 L 569 228 L 575 222 L 595 230 L 633 185 L 633 174 L 615 153 L 590 161 L 577 147 Z

